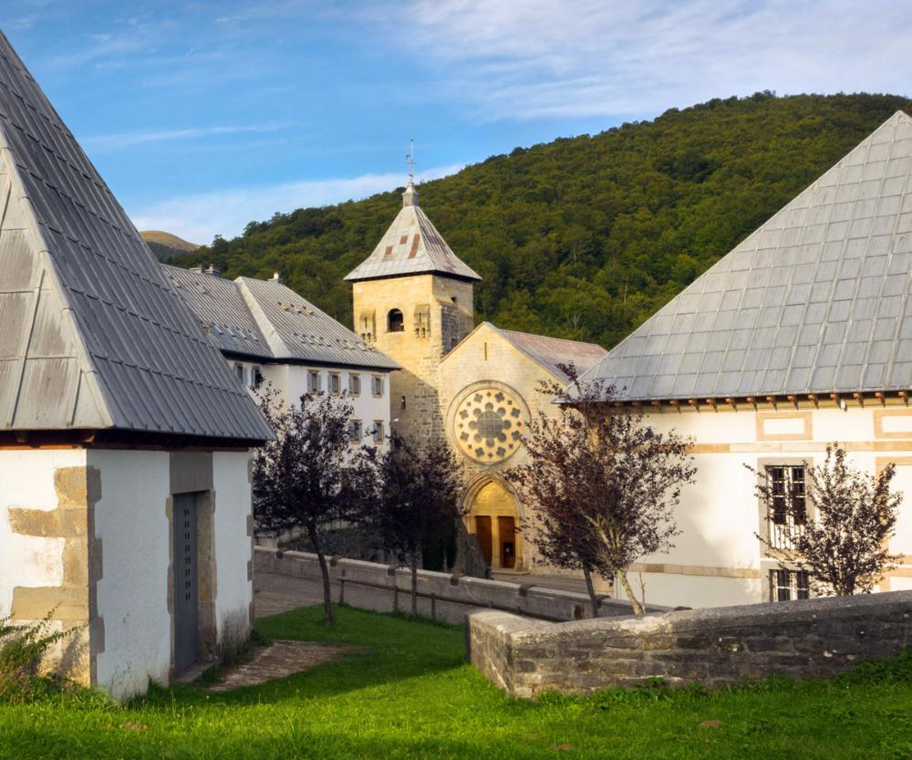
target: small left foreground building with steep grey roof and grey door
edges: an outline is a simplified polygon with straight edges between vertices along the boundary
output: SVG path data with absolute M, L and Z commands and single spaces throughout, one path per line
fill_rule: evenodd
M 117 696 L 244 640 L 272 437 L 0 34 L 0 618 Z

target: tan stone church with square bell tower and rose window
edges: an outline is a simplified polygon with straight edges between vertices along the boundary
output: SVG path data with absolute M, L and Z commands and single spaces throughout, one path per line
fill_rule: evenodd
M 467 527 L 490 567 L 542 570 L 534 562 L 525 507 L 503 479 L 523 462 L 530 415 L 553 408 L 538 391 L 565 383 L 558 365 L 588 370 L 605 350 L 573 340 L 473 328 L 472 286 L 465 265 L 421 210 L 409 180 L 402 209 L 353 283 L 355 331 L 402 367 L 390 378 L 393 432 L 445 435 L 469 474 L 463 494 Z

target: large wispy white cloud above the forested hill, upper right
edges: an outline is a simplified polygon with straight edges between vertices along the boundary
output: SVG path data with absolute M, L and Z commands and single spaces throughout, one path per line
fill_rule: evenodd
M 912 5 L 895 0 L 412 0 L 392 17 L 441 94 L 487 119 L 657 113 L 761 89 L 908 92 Z

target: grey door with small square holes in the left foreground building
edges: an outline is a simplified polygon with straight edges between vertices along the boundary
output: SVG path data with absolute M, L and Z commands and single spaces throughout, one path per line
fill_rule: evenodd
M 197 582 L 196 495 L 174 496 L 174 671 L 197 661 L 200 651 L 200 606 Z

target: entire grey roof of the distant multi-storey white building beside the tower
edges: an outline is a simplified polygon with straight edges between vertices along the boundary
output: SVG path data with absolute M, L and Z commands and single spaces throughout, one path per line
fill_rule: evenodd
M 277 280 L 228 280 L 166 264 L 161 269 L 223 353 L 261 362 L 399 369 Z

